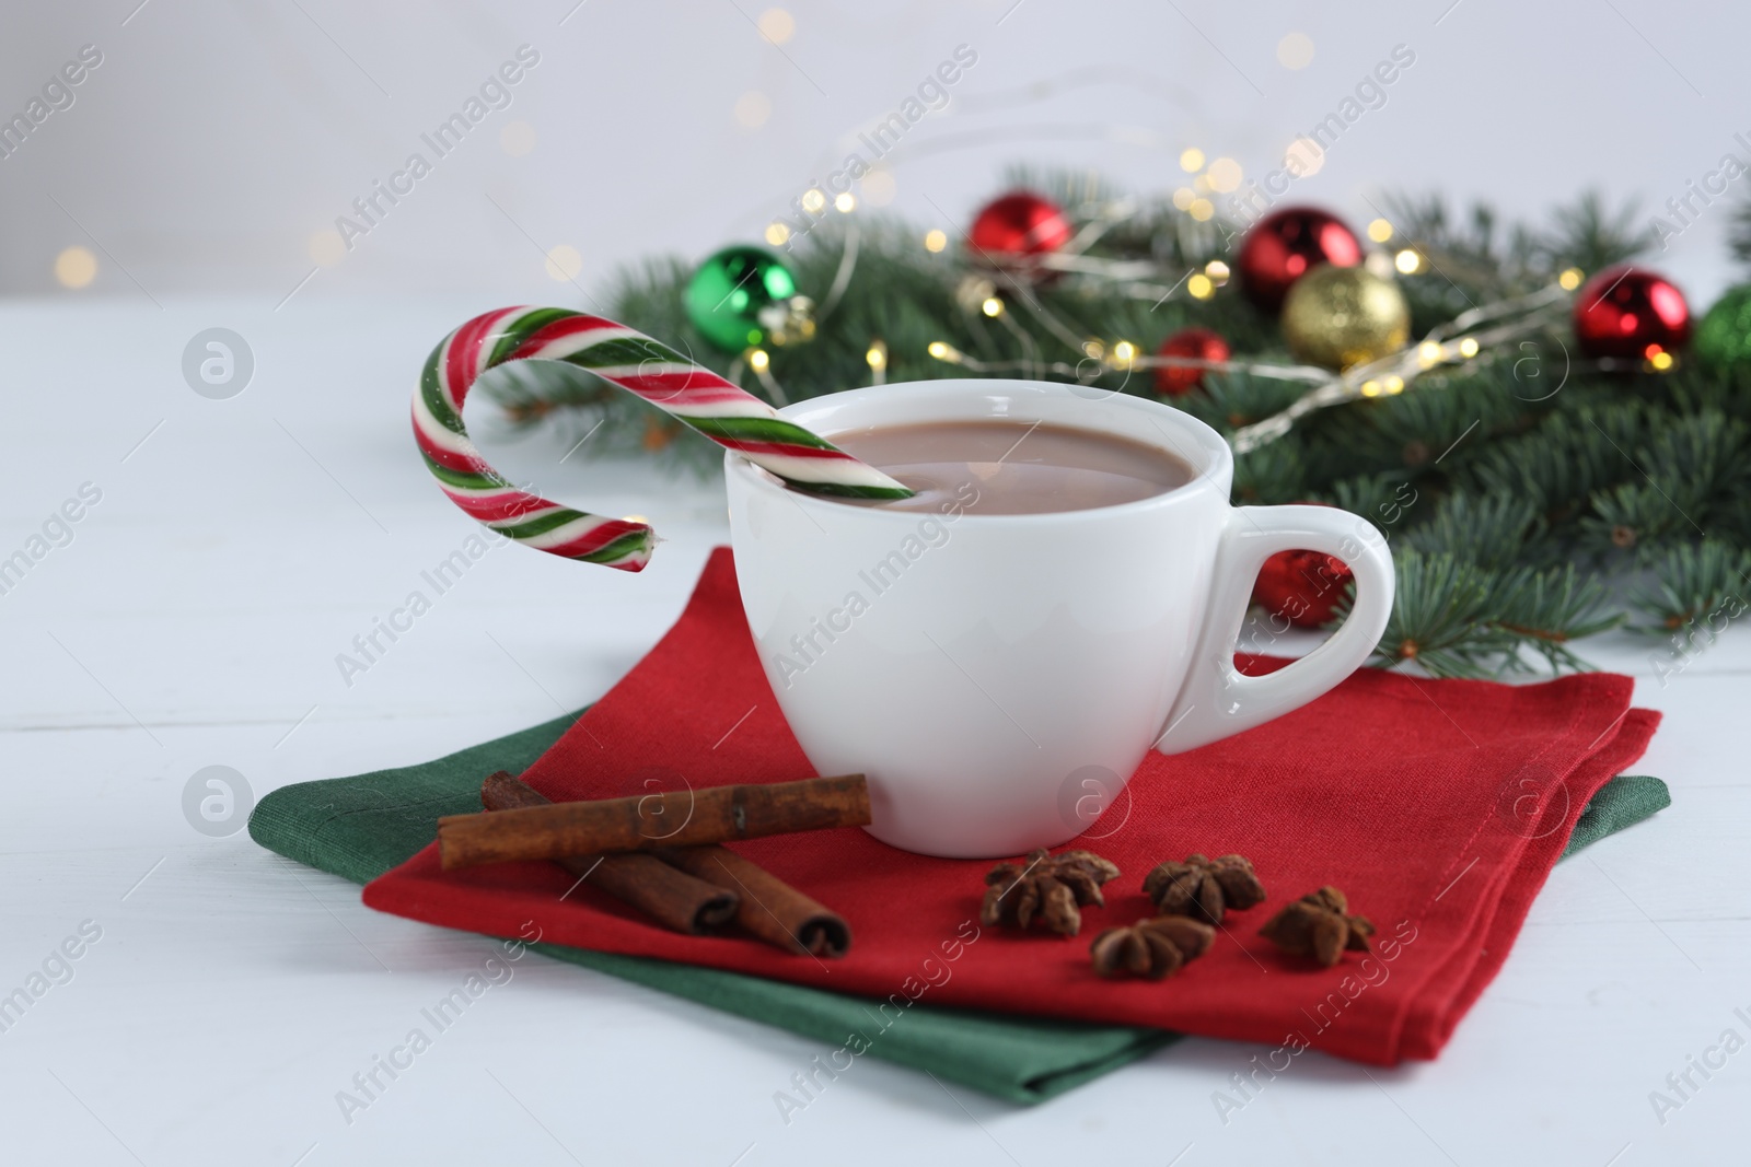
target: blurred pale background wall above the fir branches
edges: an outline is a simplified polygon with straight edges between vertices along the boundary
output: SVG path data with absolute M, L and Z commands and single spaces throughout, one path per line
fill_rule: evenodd
M 783 5 L 14 2 L 0 117 L 26 114 L 82 45 L 102 65 L 0 159 L 0 292 L 574 303 L 555 275 L 592 289 L 639 255 L 758 238 L 960 44 L 977 66 L 865 206 L 953 229 L 1010 161 L 1159 192 L 1187 182 L 1187 147 L 1259 177 L 1399 44 L 1415 65 L 1296 201 L 1361 227 L 1390 191 L 1541 217 L 1599 187 L 1646 219 L 1721 154 L 1751 161 L 1733 142 L 1751 131 L 1751 17 L 1723 3 Z M 420 135 L 524 44 L 539 63 L 510 107 L 438 159 Z M 345 248 L 336 217 L 415 150 L 432 173 Z M 1740 198 L 1730 187 L 1653 257 L 1698 311 L 1735 278 L 1723 240 Z M 58 273 L 67 248 L 84 250 Z

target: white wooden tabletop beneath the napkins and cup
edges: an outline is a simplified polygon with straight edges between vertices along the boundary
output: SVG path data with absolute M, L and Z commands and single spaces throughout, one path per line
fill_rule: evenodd
M 641 576 L 494 551 L 347 686 L 336 653 L 473 530 L 420 467 L 406 399 L 431 345 L 489 306 L 0 308 L 0 558 L 102 490 L 0 595 L 0 994 L 102 931 L 0 1032 L 0 1162 L 1744 1162 L 1751 1052 L 1691 1071 L 1688 1097 L 1667 1083 L 1725 1031 L 1751 1041 L 1740 628 L 1665 686 L 1656 644 L 1586 646 L 1665 714 L 1635 770 L 1672 807 L 1557 868 L 1438 1062 L 1308 1053 L 1224 1125 L 1212 1092 L 1264 1046 L 1182 1041 L 1037 1108 L 860 1059 L 786 1125 L 774 1092 L 830 1046 L 525 957 L 348 1123 L 336 1092 L 497 945 L 371 912 L 243 831 L 198 833 L 189 777 L 233 766 L 259 798 L 590 702 L 727 537 L 716 483 L 557 465 L 559 434 L 489 441 L 669 542 Z M 180 369 L 214 325 L 256 360 L 228 401 Z M 1681 1099 L 1663 1122 L 1655 1090 Z

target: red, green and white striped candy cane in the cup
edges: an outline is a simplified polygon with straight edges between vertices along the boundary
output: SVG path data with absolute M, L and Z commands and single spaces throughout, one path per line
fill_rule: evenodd
M 413 436 L 452 502 L 539 551 L 636 572 L 650 562 L 655 532 L 518 490 L 480 457 L 462 425 L 462 401 L 482 373 L 508 360 L 564 360 L 588 369 L 797 490 L 846 499 L 912 495 L 643 332 L 564 308 L 501 308 L 475 317 L 432 350 L 413 392 Z

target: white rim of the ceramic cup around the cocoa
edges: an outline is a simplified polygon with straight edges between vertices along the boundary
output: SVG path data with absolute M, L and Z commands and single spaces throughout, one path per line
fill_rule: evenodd
M 1129 409 L 1136 415 L 1145 415 L 1154 420 L 1154 429 L 1161 432 L 1166 441 L 1152 441 L 1149 437 L 1131 437 L 1133 441 L 1143 441 L 1145 444 L 1156 444 L 1164 453 L 1187 462 L 1194 471 L 1194 478 L 1180 486 L 1164 490 L 1157 495 L 1149 495 L 1147 499 L 1135 499 L 1131 502 L 1114 502 L 1098 507 L 1082 507 L 1077 511 L 1035 511 L 1026 514 L 979 514 L 977 511 L 961 511 L 956 523 L 972 521 L 979 527 L 993 523 L 1051 523 L 1063 521 L 1066 518 L 1089 520 L 1089 518 L 1124 518 L 1131 514 L 1145 514 L 1157 511 L 1161 507 L 1177 506 L 1185 499 L 1191 499 L 1205 490 L 1220 490 L 1220 497 L 1227 502 L 1229 486 L 1234 478 L 1234 451 L 1229 448 L 1227 441 L 1215 432 L 1205 422 L 1199 422 L 1184 409 L 1177 409 L 1166 402 L 1152 401 L 1149 397 L 1140 397 L 1136 394 L 1112 392 L 1108 397 L 1089 399 L 1077 394 L 1077 387 L 1063 381 L 1028 381 L 1012 378 L 944 378 L 937 381 L 895 381 L 891 385 L 863 385 L 860 388 L 846 388 L 837 394 L 821 394 L 819 397 L 809 397 L 807 401 L 798 401 L 779 409 L 779 416 L 797 422 L 807 429 L 812 429 L 807 418 L 823 409 L 842 409 L 842 408 L 861 408 L 870 404 L 879 406 L 904 406 L 907 401 L 928 401 L 932 404 L 940 404 L 944 399 L 954 395 L 960 399 L 979 399 L 989 394 L 1021 394 L 1023 399 L 1031 397 L 1033 401 L 1068 401 L 1075 399 L 1089 408 L 1112 404 L 1121 409 Z M 989 415 L 984 415 L 989 416 Z M 942 418 L 949 420 L 949 418 Z M 968 420 L 974 420 L 968 416 Z M 1044 420 L 1044 418 L 1042 418 Z M 1052 418 L 1054 423 L 1075 427 L 1073 422 L 1061 418 Z M 1180 427 L 1189 446 L 1194 448 L 1194 455 L 1189 457 L 1180 444 L 1168 437 L 1168 432 L 1161 429 L 1161 423 Z M 905 418 L 897 418 L 895 425 L 905 425 Z M 832 439 L 832 429 L 818 430 L 823 437 Z M 1100 430 L 1094 430 L 1100 432 Z M 805 509 L 828 507 L 826 513 L 835 516 L 865 514 L 877 521 L 893 520 L 916 523 L 919 511 L 888 511 L 872 506 L 849 506 L 842 499 L 833 499 L 830 495 L 811 495 L 800 490 L 790 490 L 783 481 L 779 481 L 769 471 L 760 469 L 748 458 L 741 457 L 734 450 L 727 450 L 723 455 L 723 472 L 725 478 L 735 478 L 749 490 L 762 490 L 767 493 L 779 492 L 786 499 L 795 500 Z M 925 514 L 928 518 L 928 513 Z

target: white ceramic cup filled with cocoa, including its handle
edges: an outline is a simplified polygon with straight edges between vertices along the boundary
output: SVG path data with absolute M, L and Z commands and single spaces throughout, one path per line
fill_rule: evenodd
M 797 493 L 725 458 L 742 607 L 819 773 L 865 773 L 876 838 L 996 857 L 1093 826 L 1154 745 L 1178 754 L 1320 696 L 1380 640 L 1392 556 L 1333 507 L 1229 506 L 1234 460 L 1203 422 L 1091 388 L 942 380 L 854 388 L 783 415 L 833 437 L 1005 418 L 1117 434 L 1196 478 L 1140 502 L 944 514 Z M 963 497 L 977 483 L 963 488 Z M 1306 548 L 1355 574 L 1343 626 L 1262 677 L 1234 642 L 1264 560 Z

